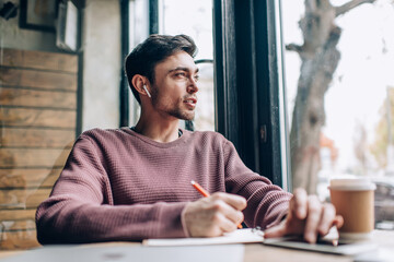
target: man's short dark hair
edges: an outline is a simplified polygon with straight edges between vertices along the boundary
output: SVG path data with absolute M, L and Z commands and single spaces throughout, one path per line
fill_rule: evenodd
M 192 37 L 186 35 L 150 35 L 139 44 L 126 58 L 125 71 L 134 96 L 141 103 L 139 93 L 132 86 L 131 80 L 136 74 L 148 78 L 154 83 L 154 68 L 161 61 L 178 51 L 185 51 L 195 57 L 197 47 Z

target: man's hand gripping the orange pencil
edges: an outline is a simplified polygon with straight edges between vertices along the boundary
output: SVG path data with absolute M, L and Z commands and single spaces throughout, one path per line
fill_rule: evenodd
M 246 200 L 236 194 L 217 192 L 188 203 L 182 219 L 190 237 L 218 237 L 233 231 L 243 222 Z

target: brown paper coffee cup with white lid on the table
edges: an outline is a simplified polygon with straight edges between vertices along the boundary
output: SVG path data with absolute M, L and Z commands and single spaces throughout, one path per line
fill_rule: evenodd
M 366 178 L 338 178 L 329 181 L 331 201 L 344 217 L 340 239 L 368 239 L 374 228 L 374 190 Z

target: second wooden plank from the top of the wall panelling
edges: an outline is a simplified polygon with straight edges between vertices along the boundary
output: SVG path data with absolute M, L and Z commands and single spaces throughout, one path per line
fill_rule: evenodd
M 28 69 L 0 68 L 0 85 L 77 91 L 77 75 Z

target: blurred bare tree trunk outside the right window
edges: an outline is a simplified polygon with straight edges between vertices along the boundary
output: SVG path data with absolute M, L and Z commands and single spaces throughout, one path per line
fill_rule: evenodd
M 296 104 L 290 131 L 290 154 L 293 188 L 316 192 L 320 164 L 320 138 L 325 123 L 324 96 L 340 60 L 337 44 L 341 28 L 336 17 L 375 0 L 352 0 L 334 7 L 329 0 L 305 0 L 300 21 L 303 45 L 290 44 L 287 50 L 301 58 Z

